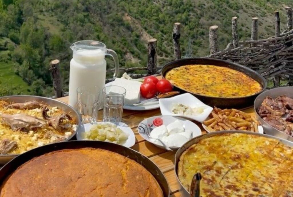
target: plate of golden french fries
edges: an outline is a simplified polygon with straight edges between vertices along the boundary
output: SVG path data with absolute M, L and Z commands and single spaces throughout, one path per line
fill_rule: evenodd
M 221 110 L 217 107 L 214 107 L 202 127 L 207 132 L 239 130 L 263 133 L 263 127 L 254 116 L 236 109 Z

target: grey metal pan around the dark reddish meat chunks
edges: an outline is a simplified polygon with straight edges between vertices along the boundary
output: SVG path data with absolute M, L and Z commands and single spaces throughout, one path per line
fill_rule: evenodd
M 273 99 L 275 99 L 278 96 L 287 96 L 290 98 L 293 98 L 293 87 L 288 86 L 288 87 L 277 87 L 277 88 L 273 88 L 271 90 L 266 90 L 263 93 L 261 93 L 260 95 L 258 95 L 258 97 L 256 97 L 255 101 L 254 101 L 254 111 L 255 111 L 255 116 L 256 119 L 260 122 L 260 124 L 263 126 L 263 130 L 266 134 L 272 135 L 272 136 L 276 136 L 276 137 L 280 137 L 283 139 L 287 139 L 291 142 L 293 142 L 293 137 L 289 136 L 287 134 L 285 134 L 284 132 L 281 132 L 278 129 L 275 129 L 274 127 L 272 127 L 270 124 L 268 124 L 267 122 L 265 122 L 257 113 L 258 108 L 261 106 L 261 103 L 263 102 L 263 100 L 269 96 L 272 97 Z

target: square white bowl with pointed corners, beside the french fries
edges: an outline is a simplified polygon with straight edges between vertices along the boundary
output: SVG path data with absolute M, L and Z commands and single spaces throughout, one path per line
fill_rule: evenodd
M 179 104 L 179 103 L 181 103 L 183 105 L 187 105 L 192 108 L 204 106 L 205 110 L 201 114 L 192 115 L 192 116 L 174 114 L 172 112 L 172 108 L 174 105 Z M 159 104 L 160 104 L 160 110 L 161 110 L 162 115 L 180 116 L 180 117 L 185 117 L 188 119 L 196 120 L 198 122 L 205 121 L 205 119 L 207 119 L 207 117 L 209 116 L 209 114 L 213 110 L 212 107 L 205 105 L 203 102 L 201 102 L 198 98 L 196 98 L 195 96 L 193 96 L 190 93 L 185 93 L 185 94 L 178 95 L 178 96 L 171 97 L 171 98 L 159 99 Z

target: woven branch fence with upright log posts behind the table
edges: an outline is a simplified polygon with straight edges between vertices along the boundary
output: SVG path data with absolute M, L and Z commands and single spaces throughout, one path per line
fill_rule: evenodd
M 285 7 L 287 16 L 287 29 L 280 33 L 280 16 L 275 11 L 275 36 L 267 39 L 258 39 L 258 18 L 253 17 L 251 23 L 251 40 L 239 41 L 238 18 L 232 17 L 232 42 L 226 48 L 219 51 L 218 48 L 218 26 L 209 28 L 209 49 L 210 55 L 207 57 L 229 60 L 241 65 L 245 65 L 263 75 L 266 79 L 272 79 L 274 87 L 280 86 L 281 80 L 288 81 L 288 85 L 293 85 L 293 11 L 291 7 Z M 174 59 L 181 59 L 180 51 L 180 23 L 175 23 L 172 39 Z M 148 41 L 147 45 L 147 66 L 133 68 L 119 68 L 120 72 L 132 72 L 137 70 L 147 70 L 147 74 L 129 74 L 132 78 L 141 78 L 148 75 L 159 74 L 162 67 L 157 66 L 157 39 Z M 58 62 L 58 64 L 54 64 Z M 54 97 L 58 98 L 68 95 L 62 92 L 62 83 L 59 72 L 59 60 L 51 63 L 52 77 L 54 85 Z M 107 70 L 107 73 L 114 72 L 115 69 Z M 106 82 L 113 81 L 113 78 L 106 79 Z

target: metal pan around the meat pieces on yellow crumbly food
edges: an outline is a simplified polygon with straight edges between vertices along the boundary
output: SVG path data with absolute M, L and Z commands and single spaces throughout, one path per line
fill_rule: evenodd
M 71 106 L 67 105 L 64 102 L 58 101 L 58 100 L 54 100 L 51 98 L 47 98 L 47 97 L 39 97 L 39 96 L 4 96 L 4 97 L 0 97 L 0 100 L 5 100 L 7 102 L 27 102 L 27 101 L 38 101 L 38 102 L 44 102 L 52 107 L 59 107 L 61 108 L 64 112 L 66 113 L 70 113 L 71 117 L 73 117 L 74 119 L 76 119 L 76 130 L 75 132 L 69 137 L 67 138 L 65 141 L 70 140 L 72 137 L 74 137 L 74 135 L 76 134 L 77 130 L 80 127 L 80 116 L 79 114 L 76 112 L 76 110 L 74 110 L 74 108 L 72 108 Z M 14 157 L 18 156 L 19 154 L 0 154 L 0 165 L 6 164 L 8 161 L 10 161 L 11 159 L 13 159 Z

